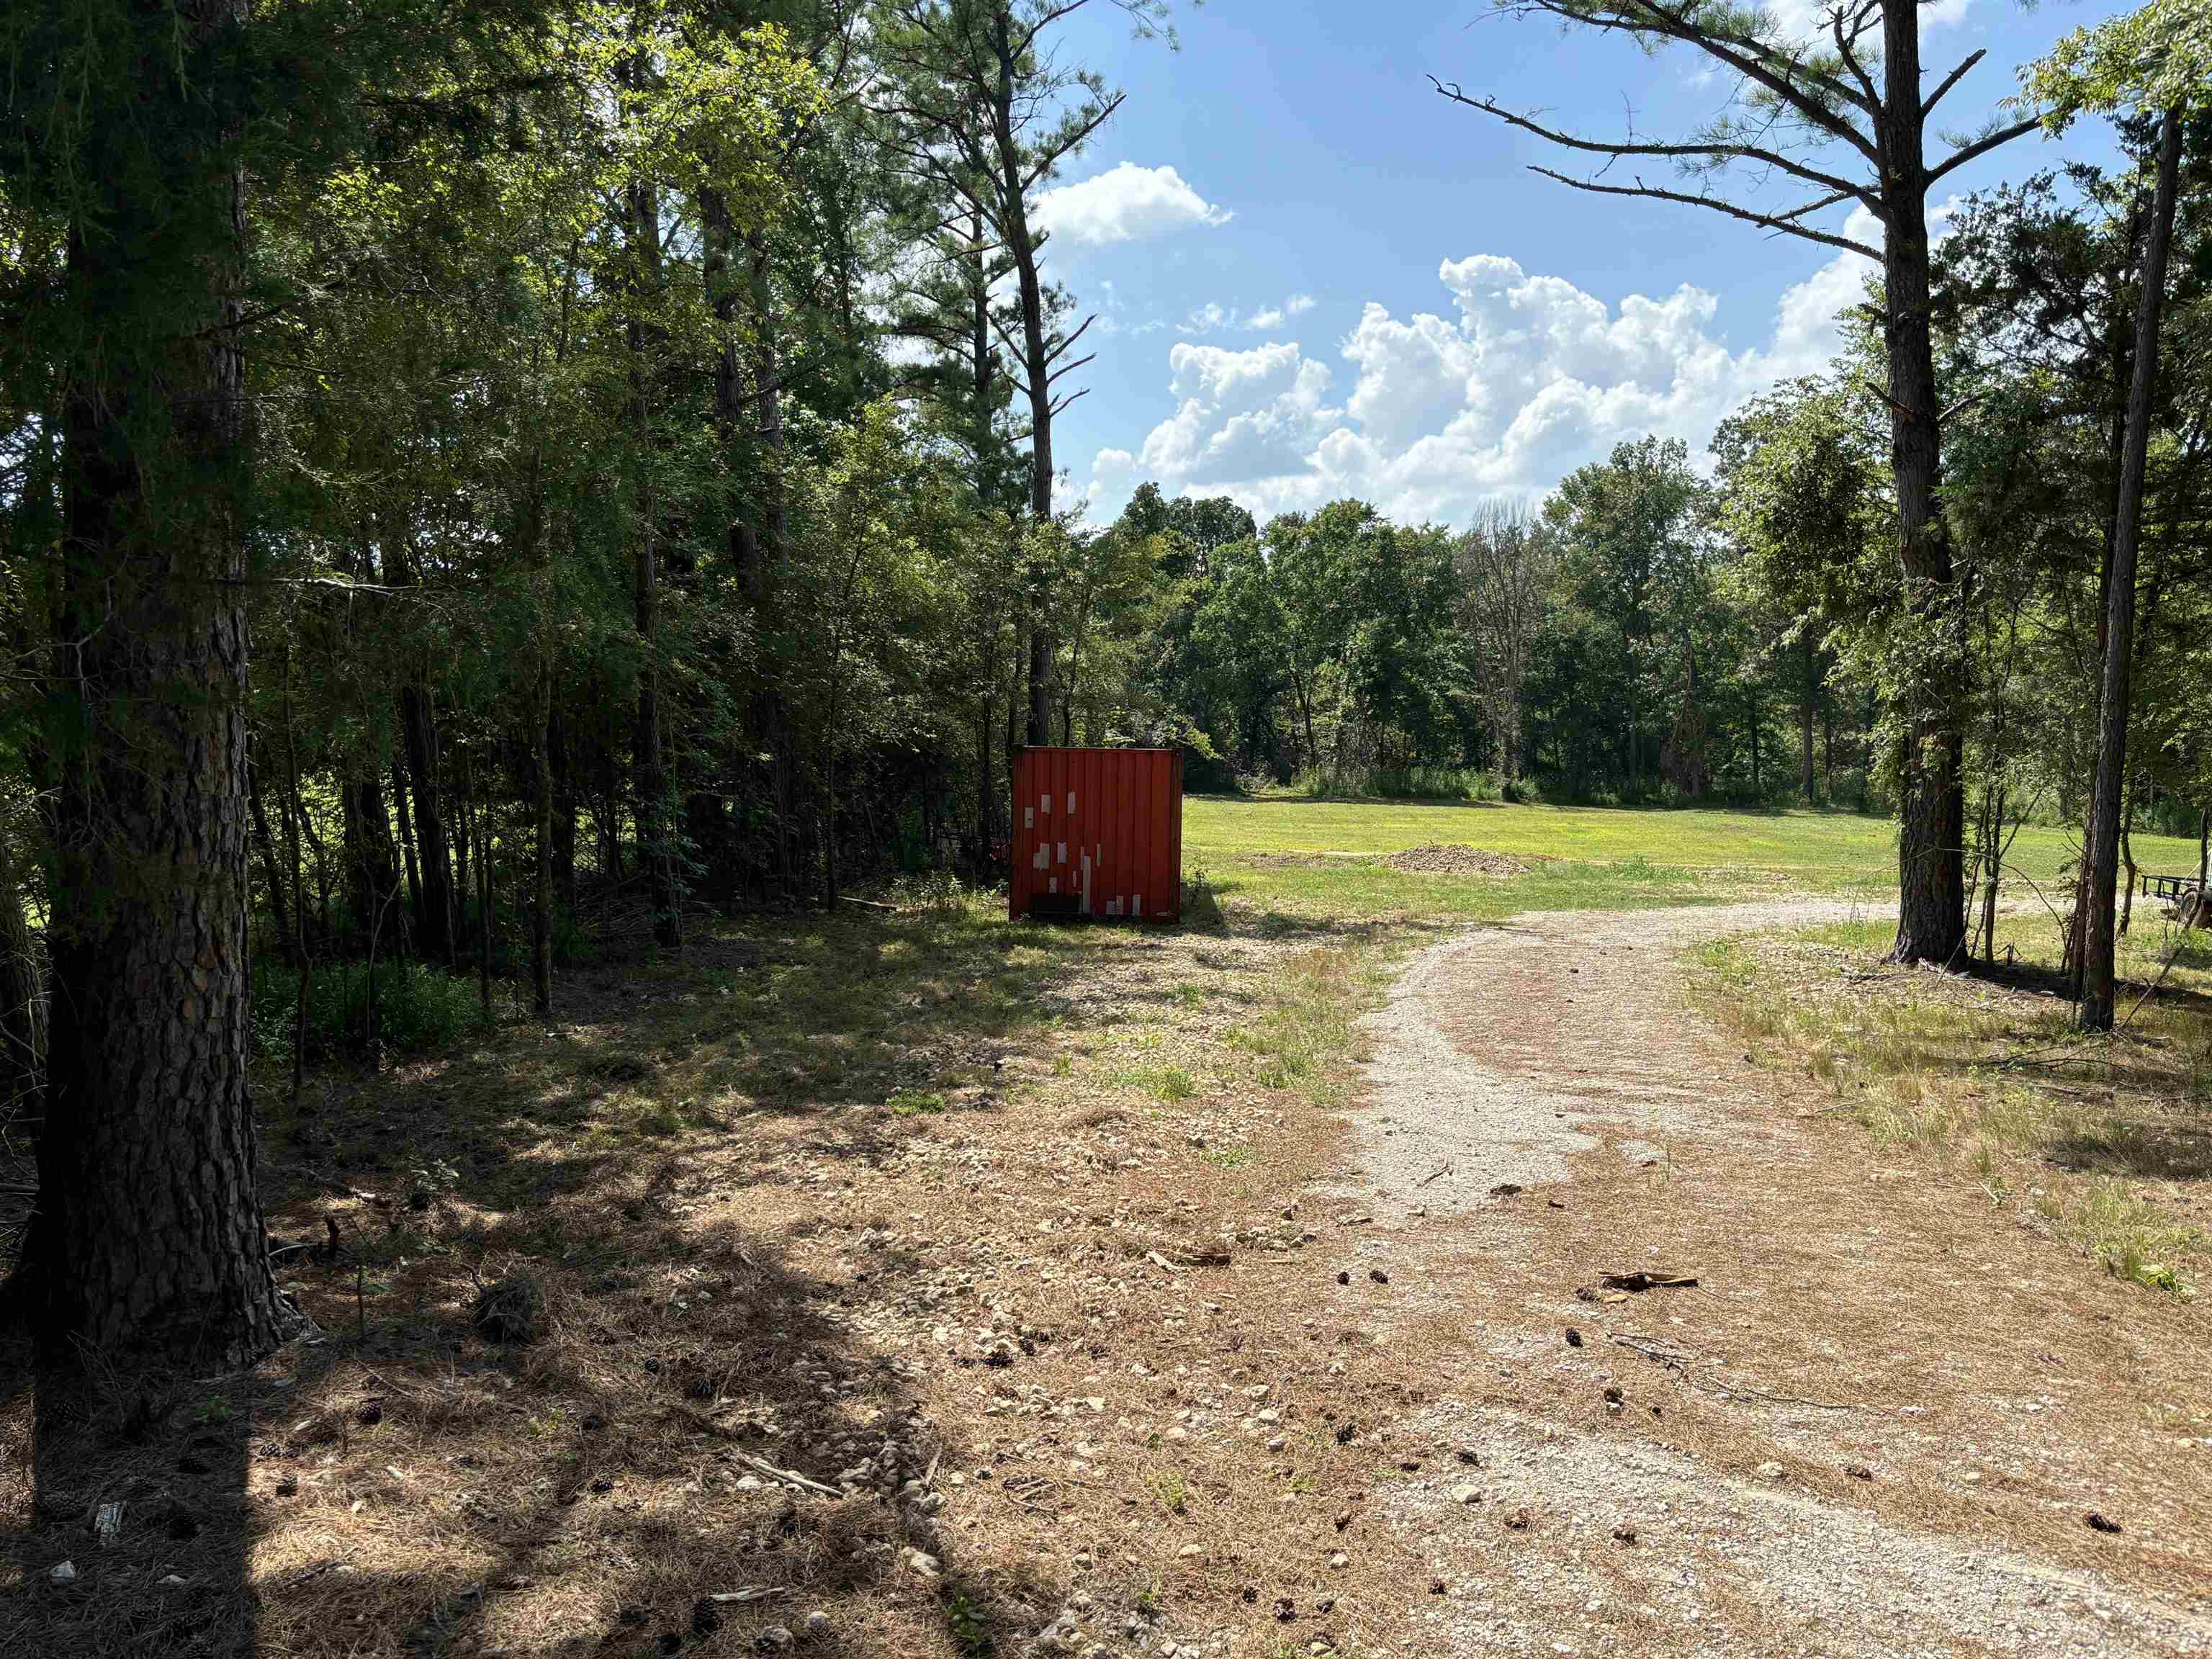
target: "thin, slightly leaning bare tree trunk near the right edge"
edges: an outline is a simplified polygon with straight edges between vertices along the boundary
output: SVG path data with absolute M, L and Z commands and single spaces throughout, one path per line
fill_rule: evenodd
M 2143 299 L 2135 316 L 2135 378 L 2128 387 L 2128 442 L 2119 460 L 2119 511 L 2112 518 L 2112 584 L 2106 597 L 2104 699 L 2097 719 L 2097 792 L 2090 799 L 2090 838 L 2081 863 L 2088 916 L 2081 927 L 2081 1029 L 2112 1029 L 2112 883 L 2121 838 L 2119 796 L 2128 772 L 2128 697 L 2135 668 L 2135 562 L 2143 526 L 2143 467 L 2150 453 L 2150 403 L 2159 378 L 2159 312 L 2166 303 L 2166 259 L 2174 237 L 2174 197 L 2181 181 L 2181 113 L 2159 124 L 2159 186 L 2143 248 Z M 2135 898 L 2135 858 L 2128 858 L 2128 900 Z

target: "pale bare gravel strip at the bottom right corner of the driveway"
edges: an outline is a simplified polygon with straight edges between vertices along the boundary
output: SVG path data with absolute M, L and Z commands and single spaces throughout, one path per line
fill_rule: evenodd
M 1484 1458 L 1480 1504 L 1442 1478 L 1394 1498 L 1394 1522 L 1429 1533 L 1449 1586 L 1429 1615 L 1433 1652 L 2212 1652 L 2201 1610 L 1730 1480 L 1632 1436 L 1449 1400 L 1407 1429 Z M 1526 1531 L 1506 1531 L 1515 1509 Z

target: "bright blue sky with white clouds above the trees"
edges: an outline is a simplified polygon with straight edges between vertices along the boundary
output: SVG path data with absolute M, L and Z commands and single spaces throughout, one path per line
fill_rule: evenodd
M 1982 122 L 2017 64 L 2108 9 L 1940 0 L 1922 13 L 1929 84 L 1989 58 L 1936 126 Z M 1077 314 L 1102 314 L 1091 392 L 1055 427 L 1062 500 L 1095 520 L 1152 478 L 1261 515 L 1352 493 L 1464 522 L 1644 431 L 1703 451 L 1745 396 L 1820 367 L 1858 296 L 1849 254 L 1540 179 L 1526 166 L 1557 153 L 1427 82 L 1668 137 L 1730 91 L 1690 53 L 1644 58 L 1482 0 L 1210 0 L 1179 4 L 1177 29 L 1181 51 L 1130 40 L 1093 0 L 1062 38 L 1128 93 L 1048 201 L 1046 265 Z M 2093 126 L 2066 139 L 2106 148 Z M 2057 157 L 2031 135 L 1938 195 Z M 1659 181 L 1666 164 L 1639 166 Z

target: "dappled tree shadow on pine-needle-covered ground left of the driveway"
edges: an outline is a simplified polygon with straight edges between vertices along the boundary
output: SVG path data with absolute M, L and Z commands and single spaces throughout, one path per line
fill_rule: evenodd
M 989 1106 L 1040 993 L 1141 938 L 790 918 L 577 973 L 553 1031 L 332 1068 L 296 1108 L 265 1084 L 279 1279 L 321 1334 L 232 1376 L 9 1336 L 0 1650 L 734 1655 L 814 1604 L 821 1655 L 1035 1628 L 1068 1586 L 962 1575 L 907 1482 L 980 1449 L 854 1321 L 927 1263 L 810 1274 L 745 1192 L 896 1157 L 898 1088 Z M 776 1155 L 768 1119 L 799 1124 Z

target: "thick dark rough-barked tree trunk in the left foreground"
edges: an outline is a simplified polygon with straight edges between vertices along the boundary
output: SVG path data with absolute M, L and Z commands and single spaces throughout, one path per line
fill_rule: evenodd
M 128 108 L 80 139 L 69 314 L 131 330 L 64 374 L 53 1024 L 22 1285 L 49 1340 L 246 1365 L 301 1329 L 279 1294 L 248 1095 L 248 754 L 239 292 L 243 75 L 186 64 L 246 24 L 184 0 L 111 51 Z M 104 128 L 164 131 L 102 166 Z M 142 257 L 115 237 L 161 226 Z

